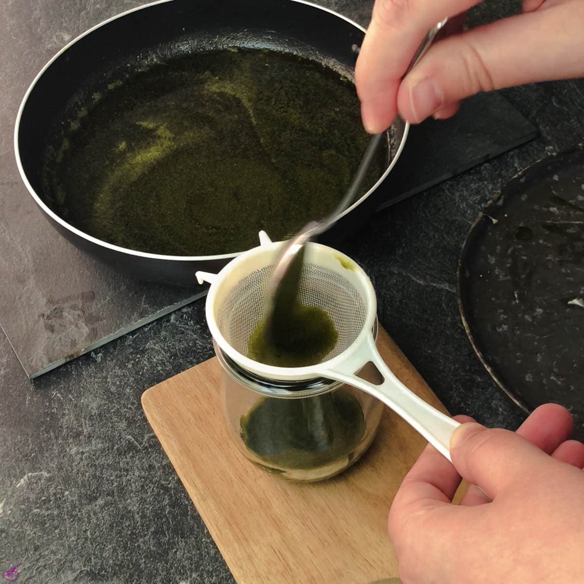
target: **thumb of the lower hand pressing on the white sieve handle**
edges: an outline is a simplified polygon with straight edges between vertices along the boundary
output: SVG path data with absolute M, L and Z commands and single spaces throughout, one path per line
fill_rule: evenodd
M 541 478 L 556 464 L 519 434 L 472 422 L 454 431 L 450 457 L 458 474 L 491 499 L 509 485 Z

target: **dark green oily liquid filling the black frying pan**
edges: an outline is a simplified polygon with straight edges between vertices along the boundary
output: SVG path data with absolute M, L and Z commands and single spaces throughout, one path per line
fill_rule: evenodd
M 283 238 L 332 210 L 369 141 L 349 79 L 276 51 L 173 58 L 86 101 L 47 149 L 44 197 L 74 227 L 142 252 L 240 252 L 262 229 Z

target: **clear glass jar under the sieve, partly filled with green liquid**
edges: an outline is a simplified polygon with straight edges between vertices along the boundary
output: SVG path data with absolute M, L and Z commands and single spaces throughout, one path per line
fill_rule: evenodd
M 373 442 L 384 406 L 369 394 L 322 378 L 262 379 L 214 346 L 228 430 L 253 464 L 294 481 L 321 481 L 356 463 Z M 381 381 L 372 364 L 359 377 Z

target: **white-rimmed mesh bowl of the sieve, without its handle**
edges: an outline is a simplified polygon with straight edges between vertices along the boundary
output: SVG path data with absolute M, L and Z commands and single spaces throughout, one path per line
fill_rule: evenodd
M 267 235 L 260 234 L 260 238 L 262 245 L 242 253 L 217 275 L 197 273 L 199 281 L 213 284 L 206 304 L 211 334 L 232 360 L 260 377 L 278 381 L 318 377 L 314 366 L 276 367 L 248 357 L 252 332 L 267 315 L 268 279 L 280 248 Z M 321 308 L 335 325 L 337 342 L 321 364 L 345 359 L 373 327 L 377 304 L 367 274 L 332 248 L 307 245 L 298 293 L 301 304 Z

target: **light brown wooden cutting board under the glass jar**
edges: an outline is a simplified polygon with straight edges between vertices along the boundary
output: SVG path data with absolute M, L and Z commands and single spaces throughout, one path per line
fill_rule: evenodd
M 380 353 L 416 394 L 446 411 L 390 337 Z M 387 512 L 425 446 L 385 409 L 353 468 L 296 484 L 256 468 L 227 433 L 216 358 L 155 385 L 142 406 L 238 584 L 370 584 L 398 575 Z

